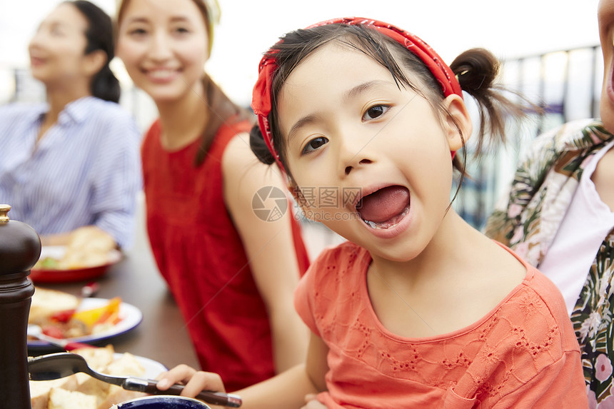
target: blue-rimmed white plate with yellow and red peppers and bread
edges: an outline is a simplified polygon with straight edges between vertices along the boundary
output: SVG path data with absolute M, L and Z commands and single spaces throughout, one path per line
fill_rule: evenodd
M 121 298 L 78 298 L 69 293 L 36 287 L 29 324 L 40 325 L 54 338 L 76 343 L 98 343 L 133 330 L 143 320 L 139 308 Z M 28 348 L 51 348 L 44 340 L 29 339 Z

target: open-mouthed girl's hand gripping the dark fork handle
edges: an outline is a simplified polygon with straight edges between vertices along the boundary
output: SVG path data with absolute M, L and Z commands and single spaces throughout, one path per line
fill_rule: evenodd
M 157 386 L 159 390 L 167 390 L 176 383 L 186 385 L 181 391 L 181 396 L 188 398 L 195 397 L 203 390 L 226 392 L 222 378 L 217 373 L 203 372 L 183 364 L 163 373 L 159 377 Z

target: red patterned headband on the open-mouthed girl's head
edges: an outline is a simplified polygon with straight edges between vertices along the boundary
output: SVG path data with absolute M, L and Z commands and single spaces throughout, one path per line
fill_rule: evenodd
M 326 26 L 328 24 L 373 27 L 373 29 L 376 29 L 381 34 L 384 34 L 385 36 L 397 41 L 413 54 L 416 54 L 416 56 L 418 56 L 418 58 L 421 59 L 431 71 L 433 76 L 435 76 L 436 80 L 441 86 L 441 89 L 443 90 L 444 96 L 457 94 L 463 98 L 463 91 L 460 89 L 460 84 L 458 84 L 458 80 L 456 79 L 453 71 L 445 62 L 443 62 L 435 50 L 431 49 L 431 46 L 419 39 L 418 36 L 414 36 L 413 34 L 399 29 L 392 24 L 383 23 L 382 21 L 377 20 L 362 19 L 360 17 L 346 17 L 322 21 L 321 23 L 313 24 L 313 26 L 308 26 L 307 29 Z M 274 51 L 268 51 L 269 54 L 271 52 Z M 275 157 L 278 166 L 284 170 L 279 159 L 279 155 L 273 146 L 273 135 L 271 134 L 271 128 L 268 123 L 268 114 L 271 113 L 271 83 L 273 81 L 273 75 L 275 74 L 276 69 L 277 63 L 274 58 L 267 58 L 265 56 L 263 59 L 261 59 L 260 66 L 258 66 L 258 81 L 256 81 L 256 85 L 253 87 L 251 107 L 253 108 L 254 113 L 256 113 L 258 116 L 258 125 L 260 126 L 260 131 L 268 150 L 271 151 Z M 454 157 L 454 153 L 455 152 L 452 152 L 452 157 Z

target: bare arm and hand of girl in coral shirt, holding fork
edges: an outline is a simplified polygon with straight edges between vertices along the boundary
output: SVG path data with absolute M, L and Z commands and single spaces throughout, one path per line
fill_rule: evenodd
M 324 375 L 328 347 L 323 340 L 311 334 L 307 360 L 279 375 L 248 388 L 238 390 L 243 400 L 241 409 L 298 409 L 305 405 L 306 395 L 316 394 L 326 388 Z M 219 375 L 197 371 L 187 365 L 178 365 L 164 373 L 158 380 L 158 389 L 166 390 L 175 383 L 183 383 L 186 388 L 181 395 L 194 397 L 201 390 L 225 391 Z M 211 405 L 211 408 L 223 409 Z

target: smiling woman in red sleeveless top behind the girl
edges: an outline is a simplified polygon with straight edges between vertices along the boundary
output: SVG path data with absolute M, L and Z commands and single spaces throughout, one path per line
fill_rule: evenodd
M 292 293 L 308 261 L 291 212 L 253 211 L 260 188 L 285 185 L 249 148 L 250 114 L 203 71 L 217 14 L 214 1 L 126 0 L 117 47 L 160 115 L 142 146 L 154 257 L 202 368 L 238 389 L 304 359 Z

